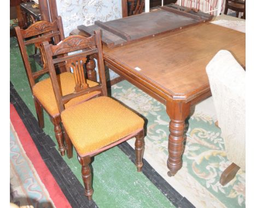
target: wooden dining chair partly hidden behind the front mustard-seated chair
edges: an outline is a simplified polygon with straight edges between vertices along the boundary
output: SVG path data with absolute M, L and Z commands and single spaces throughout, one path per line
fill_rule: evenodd
M 56 43 L 64 39 L 61 17 L 58 16 L 54 22 L 35 22 L 25 30 L 20 29 L 20 27 L 15 27 L 15 31 L 23 63 L 26 69 L 27 78 L 30 83 L 30 88 L 33 94 L 34 105 L 36 107 L 39 126 L 41 129 L 43 129 L 44 127 L 44 109 L 45 112 L 47 112 L 50 115 L 50 120 L 54 125 L 54 132 L 57 143 L 59 145 L 59 151 L 63 156 L 65 155 L 66 146 L 63 140 L 63 133 L 60 125 L 61 117 L 55 100 L 53 87 L 51 85 L 50 78 L 46 78 L 43 81 L 38 81 L 38 78 L 40 76 L 49 73 L 48 65 L 45 62 L 44 50 L 40 44 L 42 44 L 42 42 L 45 40 L 51 41 L 53 38 Z M 42 69 L 37 71 L 34 71 L 34 69 L 32 69 L 32 65 L 30 64 L 28 58 L 28 52 L 26 50 L 26 46 L 31 44 L 34 44 L 35 47 L 39 48 L 42 57 L 43 67 Z M 65 71 L 65 73 L 58 75 L 58 82 L 60 84 L 62 95 L 67 95 L 74 91 L 73 83 L 75 82 L 75 80 L 73 74 L 71 72 L 66 71 L 66 67 L 64 64 L 62 64 L 62 71 Z M 92 82 L 90 80 L 88 80 L 88 84 L 93 86 L 97 85 L 96 82 Z M 86 100 L 88 99 L 88 97 L 95 96 L 99 93 L 100 92 L 94 92 L 92 94 L 79 97 L 78 99 L 71 100 L 68 103 L 66 103 L 66 107 L 72 106 L 75 103 L 81 102 L 82 100 Z

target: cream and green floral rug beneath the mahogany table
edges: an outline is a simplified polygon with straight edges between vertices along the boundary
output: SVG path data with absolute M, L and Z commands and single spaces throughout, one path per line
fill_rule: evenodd
M 239 170 L 227 185 L 220 175 L 231 162 L 225 154 L 221 131 L 215 126 L 210 97 L 192 110 L 187 120 L 182 169 L 167 176 L 168 124 L 166 108 L 127 81 L 112 87 L 112 96 L 147 119 L 144 158 L 170 185 L 196 207 L 245 207 L 245 172 Z M 128 142 L 132 148 L 134 140 Z

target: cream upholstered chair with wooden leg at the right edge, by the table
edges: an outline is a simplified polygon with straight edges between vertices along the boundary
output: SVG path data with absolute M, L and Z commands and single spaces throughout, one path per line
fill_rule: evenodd
M 245 70 L 229 51 L 221 50 L 206 67 L 218 126 L 222 130 L 226 155 L 232 164 L 220 176 L 231 181 L 238 169 L 245 170 Z

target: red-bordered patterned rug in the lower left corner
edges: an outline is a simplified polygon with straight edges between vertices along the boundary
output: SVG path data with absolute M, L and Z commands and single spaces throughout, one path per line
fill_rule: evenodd
M 10 105 L 10 202 L 21 207 L 71 207 Z

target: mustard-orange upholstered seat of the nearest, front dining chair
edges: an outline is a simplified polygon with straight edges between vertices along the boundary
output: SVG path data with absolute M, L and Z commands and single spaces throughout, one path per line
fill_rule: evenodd
M 144 120 L 110 97 L 96 97 L 65 109 L 61 120 L 80 156 L 143 130 Z M 126 140 L 126 139 L 125 139 Z

